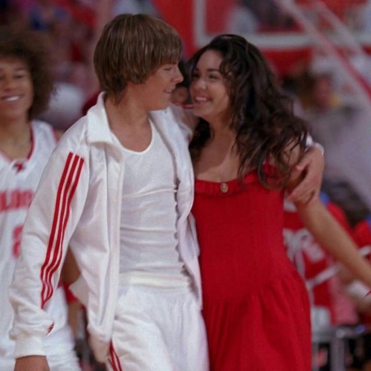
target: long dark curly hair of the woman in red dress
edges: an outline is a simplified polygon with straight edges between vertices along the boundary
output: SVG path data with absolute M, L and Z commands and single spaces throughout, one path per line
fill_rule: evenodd
M 237 35 L 220 35 L 197 51 L 188 61 L 191 76 L 203 53 L 214 50 L 222 56 L 220 73 L 228 82 L 232 117 L 236 132 L 234 148 L 240 158 L 238 178 L 257 169 L 260 181 L 268 188 L 284 187 L 290 176 L 287 148 L 299 146 L 304 153 L 307 130 L 293 114 L 291 99 L 282 93 L 259 49 Z M 190 143 L 196 163 L 202 148 L 212 138 L 209 123 L 200 118 Z M 275 171 L 265 171 L 264 163 L 273 160 Z

